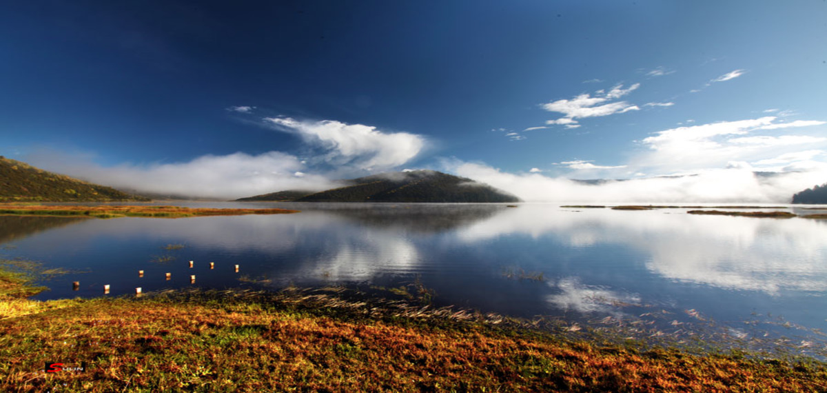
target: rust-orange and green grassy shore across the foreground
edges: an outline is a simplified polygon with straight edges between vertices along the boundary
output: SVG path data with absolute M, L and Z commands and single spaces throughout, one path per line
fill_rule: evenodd
M 827 390 L 814 360 L 619 345 L 342 288 L 41 302 L 33 280 L 0 271 L 0 391 Z

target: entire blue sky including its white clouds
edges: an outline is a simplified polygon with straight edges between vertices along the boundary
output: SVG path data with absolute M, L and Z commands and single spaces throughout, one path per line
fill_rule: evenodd
M 222 197 L 404 168 L 524 199 L 565 178 L 727 170 L 810 186 L 827 180 L 825 16 L 815 1 L 6 3 L 0 154 Z

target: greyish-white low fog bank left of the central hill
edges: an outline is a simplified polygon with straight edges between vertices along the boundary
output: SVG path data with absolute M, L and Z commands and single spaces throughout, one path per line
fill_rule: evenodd
M 27 157 L 47 170 L 74 175 L 116 189 L 141 192 L 237 199 L 284 189 L 321 190 L 332 182 L 319 175 L 305 174 L 295 156 L 279 151 L 260 155 L 234 153 L 227 156 L 200 156 L 191 161 L 149 165 L 104 167 L 77 157 L 43 151 Z

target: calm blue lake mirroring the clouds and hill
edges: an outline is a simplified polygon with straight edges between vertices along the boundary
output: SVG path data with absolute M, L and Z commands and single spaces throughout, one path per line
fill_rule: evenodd
M 827 220 L 558 204 L 184 205 L 303 211 L 0 217 L 2 256 L 69 271 L 43 282 L 50 290 L 38 300 L 102 296 L 103 285 L 111 285 L 110 296 L 134 294 L 136 287 L 407 285 L 409 292 L 427 289 L 435 306 L 554 319 L 572 330 L 615 326 L 638 336 L 825 348 Z

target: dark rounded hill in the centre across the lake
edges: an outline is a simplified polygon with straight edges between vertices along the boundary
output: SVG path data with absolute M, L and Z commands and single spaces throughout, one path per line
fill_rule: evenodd
M 511 203 L 519 198 L 501 189 L 436 170 L 411 170 L 343 180 L 343 186 L 295 199 L 302 191 L 280 191 L 238 200 L 292 200 L 295 202 L 396 202 L 396 203 Z M 272 195 L 273 199 L 264 199 Z

